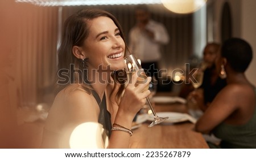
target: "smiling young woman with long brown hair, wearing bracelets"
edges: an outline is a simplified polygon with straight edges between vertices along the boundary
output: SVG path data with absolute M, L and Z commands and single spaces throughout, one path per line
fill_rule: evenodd
M 149 90 L 132 83 L 124 89 L 126 43 L 109 12 L 89 9 L 64 23 L 59 49 L 60 92 L 49 111 L 42 148 L 128 148 L 131 124 Z M 122 72 L 121 72 L 122 73 Z M 119 82 L 119 83 L 118 83 Z

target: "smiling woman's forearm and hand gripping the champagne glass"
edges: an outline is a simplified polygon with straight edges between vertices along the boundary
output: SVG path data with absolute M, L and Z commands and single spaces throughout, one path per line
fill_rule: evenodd
M 148 83 L 150 83 L 150 77 L 147 78 L 146 83 L 136 85 L 135 87 L 137 78 L 137 74 L 133 74 L 133 81 L 127 85 L 114 119 L 114 123 L 130 130 L 134 116 L 143 107 L 144 103 L 146 103 L 146 97 L 150 94 L 149 90 L 143 91 L 148 86 Z M 129 142 L 129 132 L 115 130 L 112 131 L 112 135 L 110 136 L 108 148 L 129 148 Z

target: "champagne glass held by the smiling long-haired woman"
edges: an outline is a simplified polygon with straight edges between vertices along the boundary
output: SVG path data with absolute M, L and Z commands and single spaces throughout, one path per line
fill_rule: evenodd
M 134 55 L 132 55 L 132 54 L 128 55 L 127 57 L 124 58 L 124 61 L 125 61 L 125 69 L 126 69 L 127 77 L 128 77 L 128 83 L 129 83 L 133 73 L 137 72 L 137 71 L 138 71 L 137 84 L 144 83 L 144 80 L 147 79 L 146 73 L 144 72 L 143 68 L 139 64 L 138 60 L 134 57 Z M 148 88 L 146 88 L 146 89 L 148 89 Z M 161 118 L 158 115 L 156 115 L 155 109 L 152 106 L 149 98 L 148 97 L 146 97 L 146 98 L 147 98 L 148 105 L 150 106 L 150 109 L 152 111 L 152 114 L 154 115 L 154 120 L 148 127 L 153 127 L 156 124 L 162 123 L 164 120 L 168 119 L 168 117 Z

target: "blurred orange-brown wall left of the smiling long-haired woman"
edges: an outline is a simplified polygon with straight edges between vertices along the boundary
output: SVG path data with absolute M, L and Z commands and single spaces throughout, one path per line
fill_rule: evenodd
M 1 0 L 0 20 L 0 148 L 32 148 L 37 131 L 19 113 L 35 109 L 52 87 L 57 7 Z

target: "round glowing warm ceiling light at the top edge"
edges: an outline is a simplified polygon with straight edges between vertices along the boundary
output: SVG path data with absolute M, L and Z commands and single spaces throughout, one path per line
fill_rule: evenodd
M 177 14 L 189 14 L 199 10 L 207 0 L 161 0 L 164 7 Z

